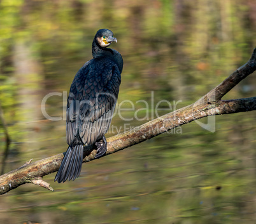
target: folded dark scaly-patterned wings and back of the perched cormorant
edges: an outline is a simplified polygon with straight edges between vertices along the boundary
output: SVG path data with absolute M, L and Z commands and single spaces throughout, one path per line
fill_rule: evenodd
M 92 145 L 108 131 L 120 85 L 120 72 L 111 60 L 87 62 L 71 85 L 67 107 L 67 142 Z

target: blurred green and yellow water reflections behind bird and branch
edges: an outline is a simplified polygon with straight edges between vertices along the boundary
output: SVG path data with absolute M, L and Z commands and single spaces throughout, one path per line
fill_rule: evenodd
M 4 172 L 66 151 L 66 92 L 102 28 L 124 58 L 113 136 L 171 112 L 168 102 L 195 102 L 247 62 L 256 1 L 0 1 L 0 102 L 11 138 L 4 159 L 1 126 Z M 255 81 L 252 74 L 224 98 L 255 96 Z M 46 113 L 58 121 L 41 111 L 49 93 Z M 75 181 L 45 176 L 54 192 L 18 187 L 1 196 L 0 223 L 255 223 L 255 119 L 218 115 L 213 132 L 192 122 L 83 164 Z

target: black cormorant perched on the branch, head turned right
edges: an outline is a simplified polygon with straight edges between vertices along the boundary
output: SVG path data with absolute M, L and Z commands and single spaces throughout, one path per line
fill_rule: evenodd
M 75 180 L 80 175 L 83 148 L 97 147 L 96 158 L 105 154 L 105 134 L 117 102 L 123 59 L 115 49 L 113 32 L 98 30 L 92 42 L 93 59 L 78 70 L 67 102 L 66 137 L 69 145 L 54 181 Z

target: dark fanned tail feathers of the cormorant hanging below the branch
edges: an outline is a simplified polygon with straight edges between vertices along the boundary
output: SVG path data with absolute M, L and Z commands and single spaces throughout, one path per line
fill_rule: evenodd
M 80 175 L 83 163 L 83 145 L 76 145 L 68 150 L 61 162 L 59 171 L 55 176 L 54 181 L 63 183 L 68 180 L 75 180 Z

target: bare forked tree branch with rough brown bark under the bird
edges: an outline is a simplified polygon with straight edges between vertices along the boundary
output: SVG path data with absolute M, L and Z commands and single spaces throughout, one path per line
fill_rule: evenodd
M 256 48 L 253 51 L 252 57 L 245 65 L 233 72 L 227 79 L 197 100 L 197 102 L 146 122 L 125 133 L 108 138 L 108 151 L 106 155 L 144 142 L 170 129 L 188 124 L 189 122 L 203 117 L 256 110 L 256 96 L 236 100 L 221 100 L 226 93 L 255 70 Z M 90 154 L 85 156 L 83 162 L 94 160 L 94 155 L 96 155 L 96 150 L 93 150 Z M 41 180 L 41 178 L 57 171 L 63 156 L 64 154 L 58 154 L 40 161 L 28 162 L 24 164 L 24 166 L 0 176 L 0 194 L 5 194 L 25 183 L 34 183 L 41 187 L 48 188 L 49 190 L 53 190 L 50 185 Z

